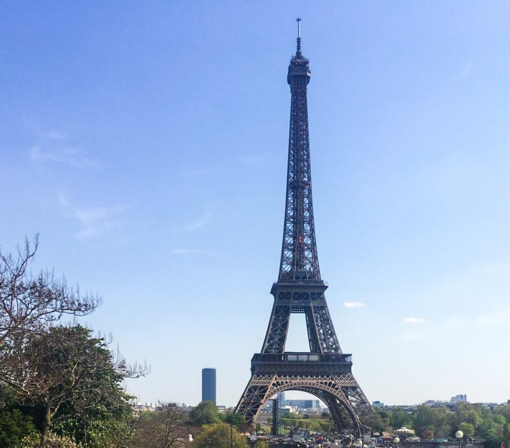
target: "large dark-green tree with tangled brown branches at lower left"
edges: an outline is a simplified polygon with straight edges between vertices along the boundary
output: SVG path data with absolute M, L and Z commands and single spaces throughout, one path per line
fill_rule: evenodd
M 0 364 L 8 366 L 0 381 L 20 403 L 42 410 L 41 448 L 58 421 L 87 421 L 98 405 L 107 410 L 127 406 L 121 382 L 147 369 L 115 359 L 108 344 L 84 327 L 60 326 L 14 337 L 0 352 Z

